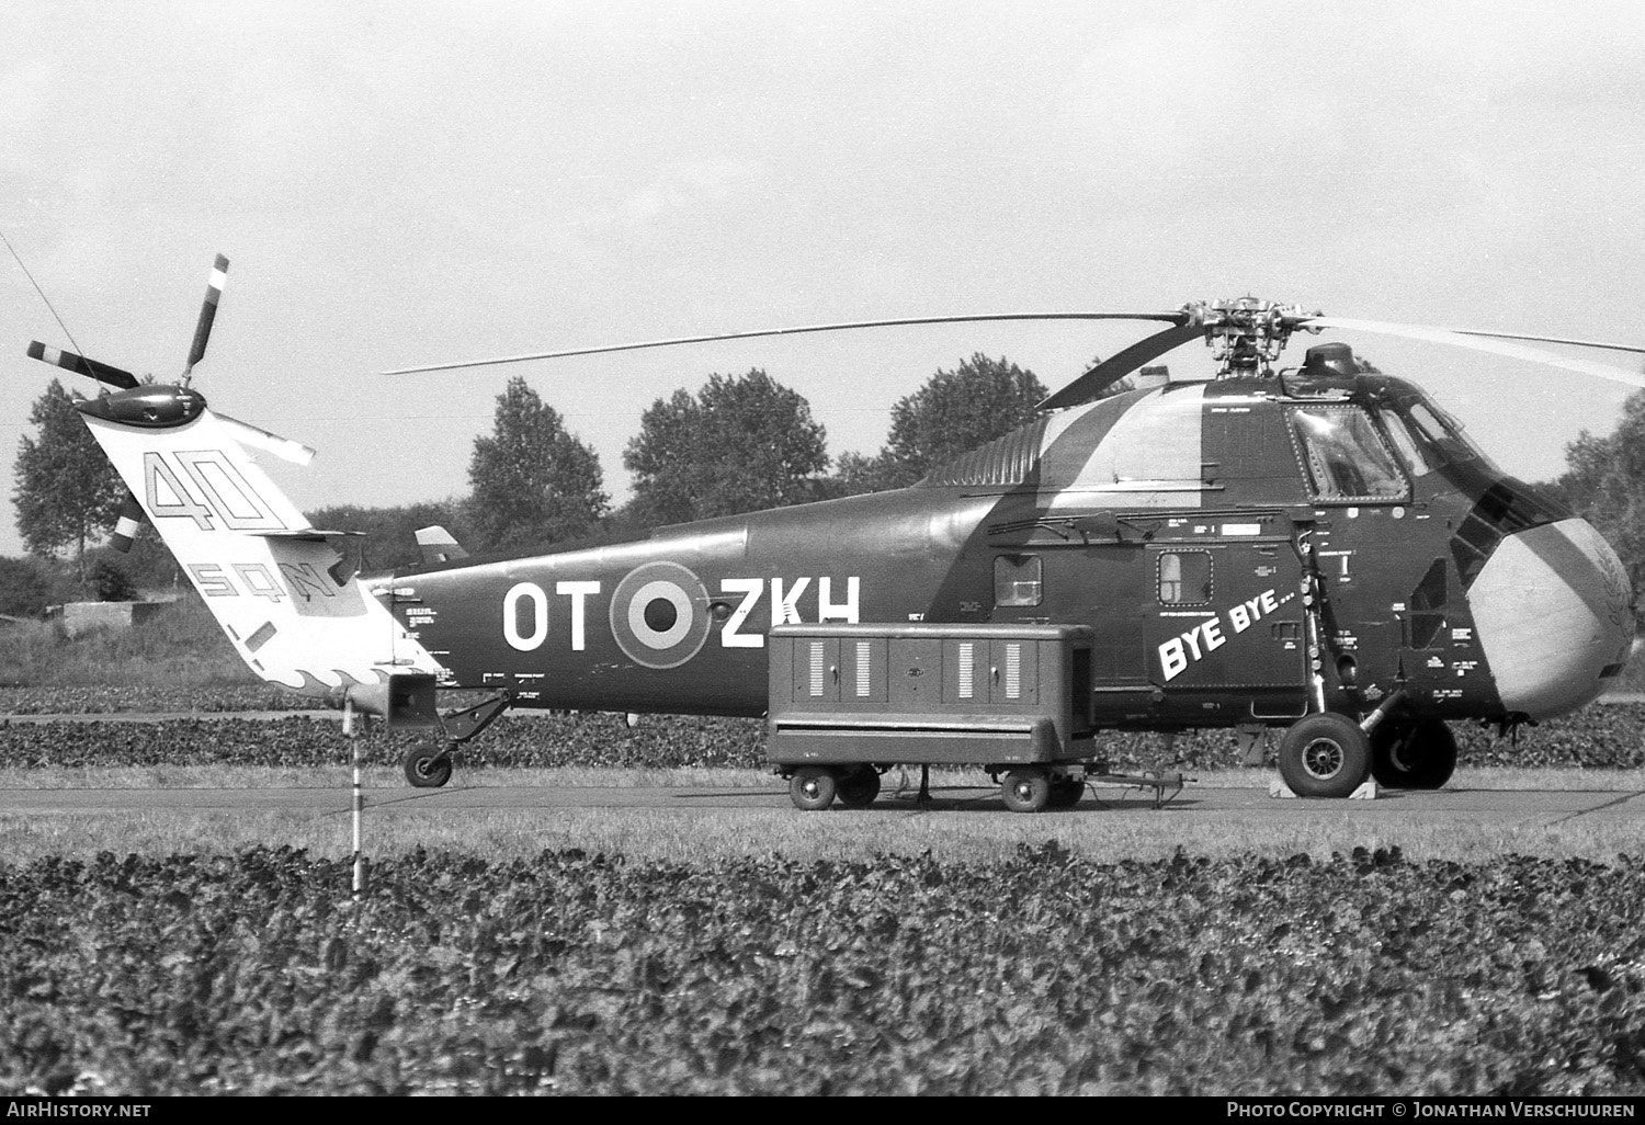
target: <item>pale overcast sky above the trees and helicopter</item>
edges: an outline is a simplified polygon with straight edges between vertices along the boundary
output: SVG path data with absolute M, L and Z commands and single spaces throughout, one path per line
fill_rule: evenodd
M 225 253 L 196 387 L 319 449 L 270 465 L 301 508 L 466 492 L 510 375 L 622 500 L 642 411 L 712 372 L 760 367 L 834 454 L 875 452 L 890 405 L 972 352 L 1054 388 L 1152 329 L 377 375 L 413 363 L 1245 293 L 1645 344 L 1637 0 L 0 3 L 0 230 L 81 350 L 168 378 Z M 30 339 L 72 347 L 5 255 L 0 554 L 21 553 L 12 464 L 53 375 Z M 1530 479 L 1627 395 L 1342 339 Z

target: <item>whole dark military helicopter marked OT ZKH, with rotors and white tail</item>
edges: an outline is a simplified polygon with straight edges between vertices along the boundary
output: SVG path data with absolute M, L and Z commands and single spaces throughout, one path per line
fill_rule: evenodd
M 1280 357 L 1298 332 L 1369 331 L 1645 387 L 1633 372 L 1527 342 L 1642 347 L 1355 321 L 1247 296 L 401 368 L 385 373 L 913 324 L 1165 326 L 1050 395 L 1035 421 L 906 488 L 503 559 L 470 558 L 429 528 L 421 566 L 367 579 L 345 562 L 349 533 L 313 528 L 247 447 L 299 462 L 311 451 L 214 413 L 189 387 L 219 266 L 178 383 L 143 385 L 38 342 L 30 354 L 115 388 L 79 410 L 132 488 L 130 523 L 156 526 L 258 676 L 434 732 L 406 755 L 411 785 L 444 785 L 452 753 L 508 709 L 770 715 L 768 658 L 804 627 L 839 635 L 827 650 L 836 686 L 883 699 L 875 676 L 895 691 L 926 669 L 903 668 L 895 643 L 869 661 L 869 641 L 852 638 L 880 625 L 893 641 L 972 630 L 956 651 L 972 660 L 980 645 L 972 671 L 995 681 L 990 630 L 1079 635 L 1071 694 L 1086 742 L 1030 765 L 980 762 L 1005 773 L 1017 811 L 1077 799 L 1069 766 L 1112 730 L 1230 729 L 1247 740 L 1280 730 L 1278 770 L 1298 796 L 1346 798 L 1367 780 L 1431 789 L 1456 766 L 1451 724 L 1510 734 L 1568 714 L 1614 683 L 1632 651 L 1633 589 L 1589 523 L 1504 474 L 1416 383 L 1364 365 L 1349 344 L 1308 347 L 1295 367 Z M 1150 375 L 1104 395 L 1196 339 L 1217 362 L 1211 380 Z M 1005 668 L 1008 679 L 1020 671 Z M 971 683 L 972 671 L 957 676 Z M 454 691 L 484 697 L 441 711 Z M 959 707 L 934 725 L 964 737 L 975 714 Z M 860 808 L 888 768 L 870 753 L 780 771 L 801 809 L 836 794 Z

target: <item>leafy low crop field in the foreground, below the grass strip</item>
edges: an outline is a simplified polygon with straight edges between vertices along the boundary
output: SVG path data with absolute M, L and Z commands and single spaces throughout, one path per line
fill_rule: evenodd
M 1645 863 L 0 865 L 0 1094 L 1645 1094 Z

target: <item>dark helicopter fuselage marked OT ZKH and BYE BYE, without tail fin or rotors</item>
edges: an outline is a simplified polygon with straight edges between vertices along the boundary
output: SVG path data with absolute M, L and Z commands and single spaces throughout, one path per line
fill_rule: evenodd
M 1415 385 L 1329 368 L 1127 391 L 910 488 L 388 589 L 444 686 L 628 712 L 763 714 L 783 623 L 1089 625 L 1094 724 L 1155 730 L 1395 692 L 1425 719 L 1543 719 L 1594 699 L 1633 637 L 1587 523 Z

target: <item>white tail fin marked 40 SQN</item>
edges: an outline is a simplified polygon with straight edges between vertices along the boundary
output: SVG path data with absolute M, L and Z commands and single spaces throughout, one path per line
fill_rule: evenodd
M 145 385 L 77 408 L 258 676 L 375 711 L 383 686 L 443 673 L 347 569 L 344 533 L 309 526 L 197 391 Z

